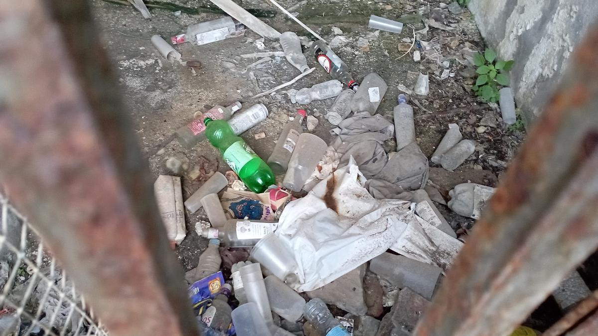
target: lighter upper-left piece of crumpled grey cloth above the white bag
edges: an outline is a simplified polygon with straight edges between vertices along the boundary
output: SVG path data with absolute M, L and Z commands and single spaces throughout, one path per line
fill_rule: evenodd
M 388 161 L 382 144 L 394 136 L 395 126 L 382 115 L 360 112 L 341 121 L 331 133 L 338 135 L 332 143 L 332 148 L 342 155 L 338 166 L 346 166 L 353 157 L 361 173 L 371 178 Z

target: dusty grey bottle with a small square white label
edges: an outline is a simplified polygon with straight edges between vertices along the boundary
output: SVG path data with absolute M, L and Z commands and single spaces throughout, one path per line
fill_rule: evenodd
M 378 74 L 372 72 L 365 76 L 351 101 L 353 112 L 369 112 L 374 115 L 387 88 L 386 82 Z

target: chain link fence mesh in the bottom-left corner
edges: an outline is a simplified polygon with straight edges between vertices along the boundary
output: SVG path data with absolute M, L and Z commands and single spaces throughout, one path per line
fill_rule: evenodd
M 0 194 L 0 336 L 108 335 L 35 228 Z

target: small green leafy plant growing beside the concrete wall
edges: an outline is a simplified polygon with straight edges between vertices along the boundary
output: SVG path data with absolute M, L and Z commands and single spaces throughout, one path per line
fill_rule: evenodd
M 486 102 L 498 102 L 499 85 L 509 86 L 506 73 L 513 68 L 514 64 L 514 60 L 496 59 L 496 53 L 492 49 L 486 49 L 484 54 L 475 55 L 474 65 L 478 67 L 475 73 L 478 74 L 478 78 L 472 89 L 476 96 Z

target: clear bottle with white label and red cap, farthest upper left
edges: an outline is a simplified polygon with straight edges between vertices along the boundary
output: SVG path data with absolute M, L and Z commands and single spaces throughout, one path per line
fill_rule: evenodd
M 241 36 L 245 32 L 245 26 L 242 23 L 233 20 L 232 17 L 222 17 L 207 22 L 200 22 L 187 27 L 185 33 L 172 36 L 172 44 L 181 44 L 191 42 L 202 45 L 216 41 L 222 41 L 230 37 Z

